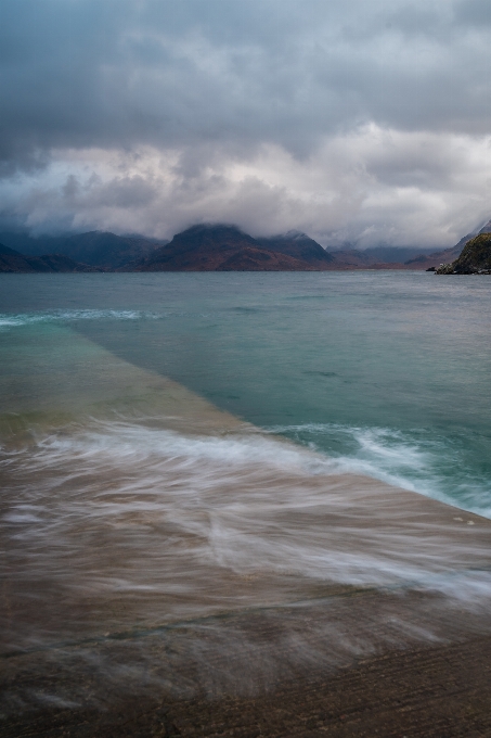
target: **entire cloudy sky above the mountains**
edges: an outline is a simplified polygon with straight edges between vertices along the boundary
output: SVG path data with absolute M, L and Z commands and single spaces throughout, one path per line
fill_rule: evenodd
M 490 41 L 489 0 L 2 0 L 0 228 L 453 245 Z

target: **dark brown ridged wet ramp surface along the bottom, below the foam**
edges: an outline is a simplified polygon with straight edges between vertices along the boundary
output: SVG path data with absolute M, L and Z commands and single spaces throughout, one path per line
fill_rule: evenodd
M 326 616 L 359 639 L 358 656 L 344 651 L 339 634 L 320 634 Z M 422 645 L 416 629 L 429 624 L 434 637 Z M 428 595 L 367 591 L 209 629 L 189 625 L 144 644 L 100 644 L 90 659 L 81 646 L 15 657 L 2 664 L 4 687 L 46 701 L 11 714 L 2 736 L 489 736 L 490 625 L 482 613 L 449 616 Z M 309 647 L 310 659 L 299 658 Z M 324 661 L 313 658 L 318 648 Z M 135 679 L 128 664 L 138 671 L 150 653 L 152 666 Z

